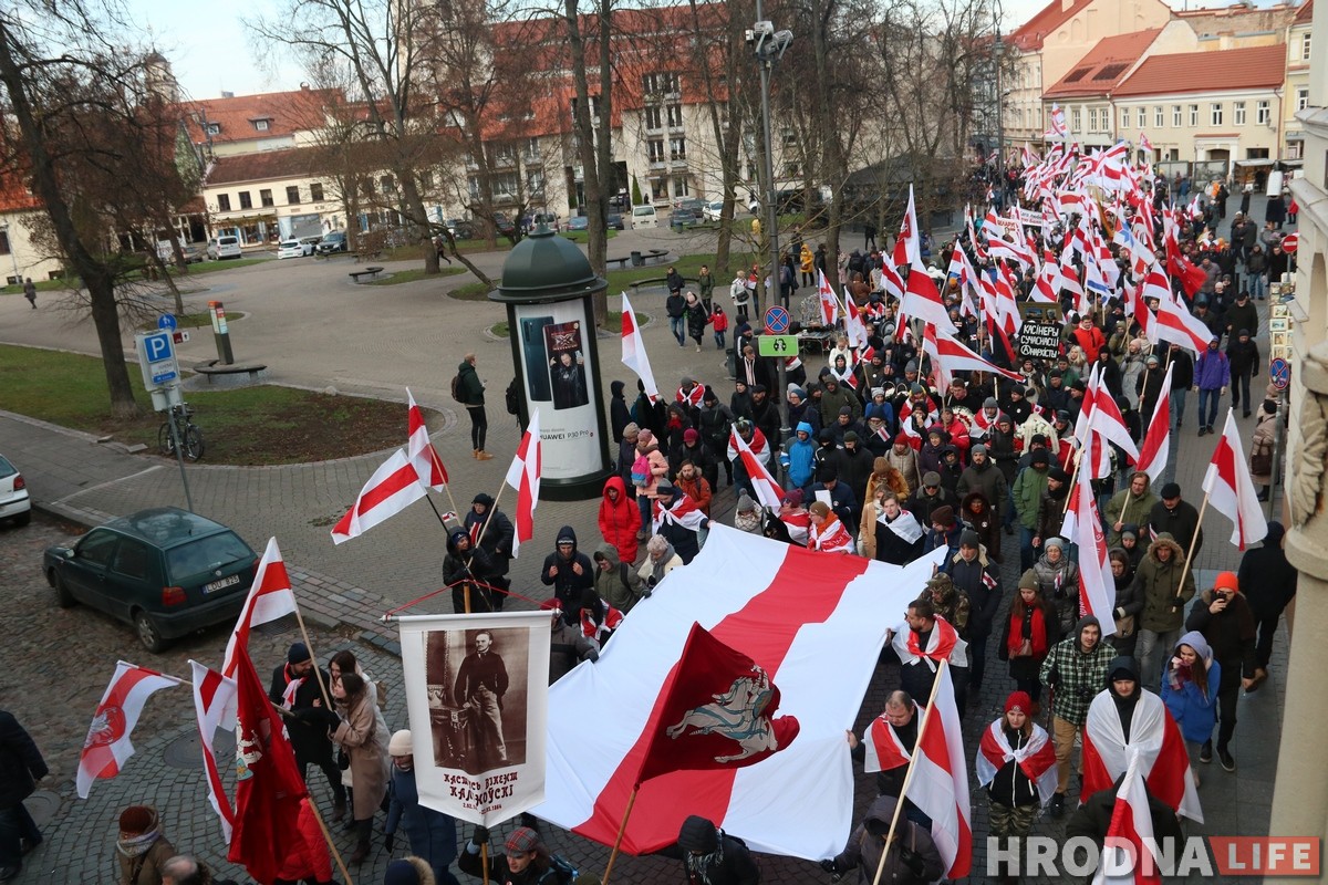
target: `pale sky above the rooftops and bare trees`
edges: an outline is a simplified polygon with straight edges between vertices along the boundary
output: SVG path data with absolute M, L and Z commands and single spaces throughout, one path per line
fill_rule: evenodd
M 255 40 L 240 24 L 240 13 L 275 11 L 275 0 L 193 4 L 179 0 L 125 0 L 145 40 L 166 56 L 175 80 L 193 98 L 216 98 L 299 89 L 303 72 L 280 46 Z M 1004 31 L 1009 33 L 1045 5 L 1044 0 L 1004 0 Z

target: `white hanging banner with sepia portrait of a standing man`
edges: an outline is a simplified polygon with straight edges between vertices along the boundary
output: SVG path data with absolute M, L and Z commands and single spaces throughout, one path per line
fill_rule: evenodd
M 543 801 L 548 613 L 397 620 L 420 801 L 486 827 Z

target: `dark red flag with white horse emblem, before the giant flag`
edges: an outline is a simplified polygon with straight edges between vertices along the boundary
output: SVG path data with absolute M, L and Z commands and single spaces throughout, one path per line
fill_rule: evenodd
M 660 691 L 659 718 L 637 782 L 671 771 L 753 766 L 798 736 L 798 720 L 776 716 L 780 689 L 752 658 L 700 624 Z

